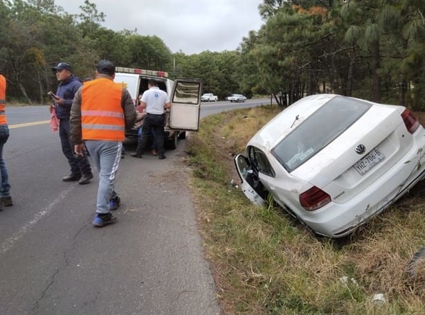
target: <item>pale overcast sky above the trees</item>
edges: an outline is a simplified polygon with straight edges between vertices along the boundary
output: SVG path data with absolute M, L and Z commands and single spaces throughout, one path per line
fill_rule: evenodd
M 262 0 L 90 0 L 106 15 L 102 26 L 156 35 L 172 53 L 234 51 L 250 30 L 263 24 Z M 84 0 L 55 0 L 70 14 L 80 13 Z

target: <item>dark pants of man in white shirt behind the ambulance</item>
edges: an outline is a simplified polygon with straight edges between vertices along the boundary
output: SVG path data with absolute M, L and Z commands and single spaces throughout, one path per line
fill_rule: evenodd
M 155 137 L 154 141 L 156 143 L 156 150 L 158 150 L 158 155 L 162 156 L 165 154 L 164 150 L 164 125 L 165 125 L 165 115 L 154 115 L 147 114 L 143 119 L 143 128 L 142 136 L 140 141 L 138 141 L 136 154 L 143 154 L 149 143 L 152 129 L 154 130 Z

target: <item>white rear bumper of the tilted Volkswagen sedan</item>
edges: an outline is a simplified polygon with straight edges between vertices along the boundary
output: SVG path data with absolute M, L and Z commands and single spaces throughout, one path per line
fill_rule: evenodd
M 410 150 L 388 172 L 343 204 L 330 202 L 323 208 L 299 214 L 310 228 L 327 237 L 352 233 L 425 177 L 425 136 L 415 136 Z

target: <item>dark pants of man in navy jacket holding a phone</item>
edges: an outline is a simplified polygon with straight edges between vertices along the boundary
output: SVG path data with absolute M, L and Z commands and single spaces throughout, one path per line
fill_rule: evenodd
M 74 154 L 73 145 L 69 139 L 69 118 L 59 119 L 59 136 L 62 145 L 62 152 L 68 159 L 69 166 L 71 167 L 71 174 L 90 174 L 91 168 L 87 156 L 77 157 Z

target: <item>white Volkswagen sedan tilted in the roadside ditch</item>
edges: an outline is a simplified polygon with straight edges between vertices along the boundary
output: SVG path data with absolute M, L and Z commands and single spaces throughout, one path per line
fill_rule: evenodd
M 270 193 L 314 233 L 343 237 L 424 178 L 424 147 L 405 107 L 319 94 L 275 116 L 235 165 L 251 201 Z

